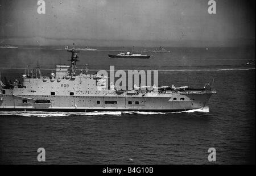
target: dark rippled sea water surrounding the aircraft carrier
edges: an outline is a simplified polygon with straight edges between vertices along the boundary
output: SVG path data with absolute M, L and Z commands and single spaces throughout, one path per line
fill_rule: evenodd
M 214 79 L 217 94 L 210 98 L 209 109 L 179 113 L 1 112 L 0 163 L 39 164 L 39 147 L 46 149 L 46 164 L 209 164 L 210 147 L 217 150 L 216 164 L 255 162 L 255 66 L 244 65 L 255 58 L 255 52 L 168 50 L 170 55 L 154 54 L 146 62 L 108 60 L 106 51 L 80 52 L 80 64 L 89 62 L 95 70 L 109 69 L 112 64 L 117 69 L 162 70 L 159 85 L 201 87 Z M 59 64 L 60 57 L 69 58 L 65 51 L 31 50 L 28 55 L 23 49 L 16 51 L 1 52 L 0 60 L 10 59 L 1 60 L 0 67 L 26 67 L 40 56 L 40 65 L 49 68 Z M 1 73 L 15 79 L 23 71 L 1 69 Z

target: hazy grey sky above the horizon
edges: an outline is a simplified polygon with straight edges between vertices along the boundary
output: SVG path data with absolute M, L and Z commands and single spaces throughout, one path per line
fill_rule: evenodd
M 255 43 L 255 1 L 0 0 L 0 45 L 236 47 Z

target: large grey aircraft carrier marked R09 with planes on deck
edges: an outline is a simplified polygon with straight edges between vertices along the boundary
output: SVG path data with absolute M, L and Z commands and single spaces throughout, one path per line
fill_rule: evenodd
M 0 110 L 2 111 L 185 111 L 207 106 L 216 91 L 209 85 L 202 88 L 188 86 L 137 87 L 117 90 L 106 86 L 108 77 L 77 73 L 78 51 L 71 53 L 70 65 L 56 65 L 56 72 L 42 76 L 35 72 L 22 75 L 22 82 L 0 81 Z

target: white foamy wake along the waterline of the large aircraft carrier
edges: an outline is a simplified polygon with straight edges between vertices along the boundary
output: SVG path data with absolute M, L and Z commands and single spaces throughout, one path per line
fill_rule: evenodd
M 209 107 L 196 110 L 177 111 L 177 112 L 144 112 L 144 111 L 94 111 L 94 112 L 44 112 L 44 111 L 0 111 L 0 116 L 23 116 L 23 117 L 63 117 L 63 116 L 100 116 L 100 115 L 163 115 L 174 113 L 192 113 L 192 112 L 209 112 Z

